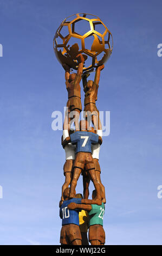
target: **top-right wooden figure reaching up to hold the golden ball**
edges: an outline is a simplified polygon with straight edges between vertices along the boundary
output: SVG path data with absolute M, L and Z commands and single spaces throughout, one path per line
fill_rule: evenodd
M 89 122 L 89 125 L 90 125 L 90 120 L 92 118 L 92 123 L 94 125 L 95 130 L 102 129 L 102 125 L 99 117 L 99 111 L 95 105 L 95 101 L 98 99 L 100 72 L 103 68 L 104 68 L 104 65 L 98 66 L 96 68 L 94 82 L 92 80 L 89 80 L 87 82 L 87 77 L 89 76 L 88 72 L 85 72 L 82 75 L 83 89 L 85 92 L 84 111 L 86 112 L 86 118 Z

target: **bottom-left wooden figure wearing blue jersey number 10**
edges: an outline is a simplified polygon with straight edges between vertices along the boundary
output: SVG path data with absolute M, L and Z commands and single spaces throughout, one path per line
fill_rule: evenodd
M 62 218 L 62 228 L 60 234 L 61 245 L 81 245 L 82 237 L 79 228 L 79 211 L 69 210 L 68 204 L 81 204 L 81 198 L 69 199 L 70 188 L 66 188 L 63 192 L 64 201 L 60 207 L 60 218 Z M 74 195 L 76 197 L 75 191 Z

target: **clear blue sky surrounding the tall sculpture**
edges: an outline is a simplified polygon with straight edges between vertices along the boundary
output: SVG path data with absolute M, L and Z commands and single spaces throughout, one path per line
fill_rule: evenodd
M 63 112 L 67 91 L 53 37 L 65 17 L 82 12 L 99 16 L 114 40 L 97 102 L 111 112 L 100 150 L 106 244 L 161 245 L 161 7 L 159 0 L 1 1 L 1 245 L 59 245 L 65 158 L 51 114 Z

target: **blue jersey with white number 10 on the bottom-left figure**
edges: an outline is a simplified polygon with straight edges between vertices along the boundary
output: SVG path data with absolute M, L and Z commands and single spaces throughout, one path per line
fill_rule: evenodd
M 60 218 L 62 218 L 62 225 L 76 224 L 79 225 L 79 211 L 81 210 L 69 210 L 68 204 L 76 203 L 81 204 L 81 198 L 72 198 L 67 201 L 63 201 L 60 207 Z

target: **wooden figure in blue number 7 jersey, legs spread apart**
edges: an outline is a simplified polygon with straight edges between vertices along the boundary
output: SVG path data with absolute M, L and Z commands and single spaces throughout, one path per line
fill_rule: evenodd
M 87 121 L 80 121 L 80 131 L 74 132 L 70 137 L 64 139 L 62 142 L 63 148 L 67 143 L 72 142 L 76 144 L 76 155 L 75 161 L 73 164 L 74 173 L 73 180 L 70 185 L 70 198 L 74 197 L 74 190 L 77 184 L 77 180 L 83 169 L 88 172 L 90 179 L 92 180 L 95 190 L 96 190 L 96 199 L 101 199 L 100 195 L 100 185 L 96 180 L 95 175 L 95 166 L 92 158 L 91 145 L 92 144 L 102 144 L 102 138 L 99 135 L 96 135 L 93 132 L 87 131 Z

